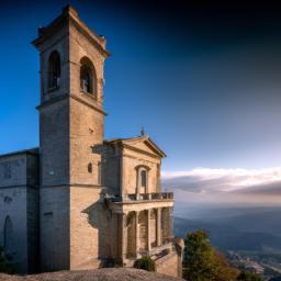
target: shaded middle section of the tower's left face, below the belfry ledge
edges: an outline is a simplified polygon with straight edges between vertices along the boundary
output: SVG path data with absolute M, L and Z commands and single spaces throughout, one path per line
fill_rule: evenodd
M 41 186 L 69 183 L 69 100 L 40 110 Z

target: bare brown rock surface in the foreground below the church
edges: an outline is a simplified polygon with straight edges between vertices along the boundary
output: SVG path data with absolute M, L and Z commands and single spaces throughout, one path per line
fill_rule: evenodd
M 83 271 L 58 271 L 33 276 L 7 276 L 0 273 L 0 281 L 182 281 L 183 279 L 132 268 L 103 268 Z

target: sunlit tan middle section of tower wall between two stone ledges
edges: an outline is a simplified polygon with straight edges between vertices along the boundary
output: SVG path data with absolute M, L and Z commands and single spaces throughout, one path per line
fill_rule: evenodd
M 93 146 L 102 145 L 103 114 L 70 100 L 70 183 L 101 186 L 99 181 L 101 151 Z M 89 165 L 91 170 L 89 170 Z

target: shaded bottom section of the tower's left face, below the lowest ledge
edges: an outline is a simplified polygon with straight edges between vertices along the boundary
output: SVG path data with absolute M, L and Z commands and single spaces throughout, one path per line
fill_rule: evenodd
M 69 187 L 41 187 L 42 271 L 69 269 Z

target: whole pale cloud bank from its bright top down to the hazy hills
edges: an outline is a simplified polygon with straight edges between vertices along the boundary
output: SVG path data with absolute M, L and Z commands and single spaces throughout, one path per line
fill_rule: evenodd
M 164 172 L 162 189 L 175 193 L 180 216 L 201 216 L 202 211 L 205 216 L 214 209 L 280 207 L 281 167 Z

